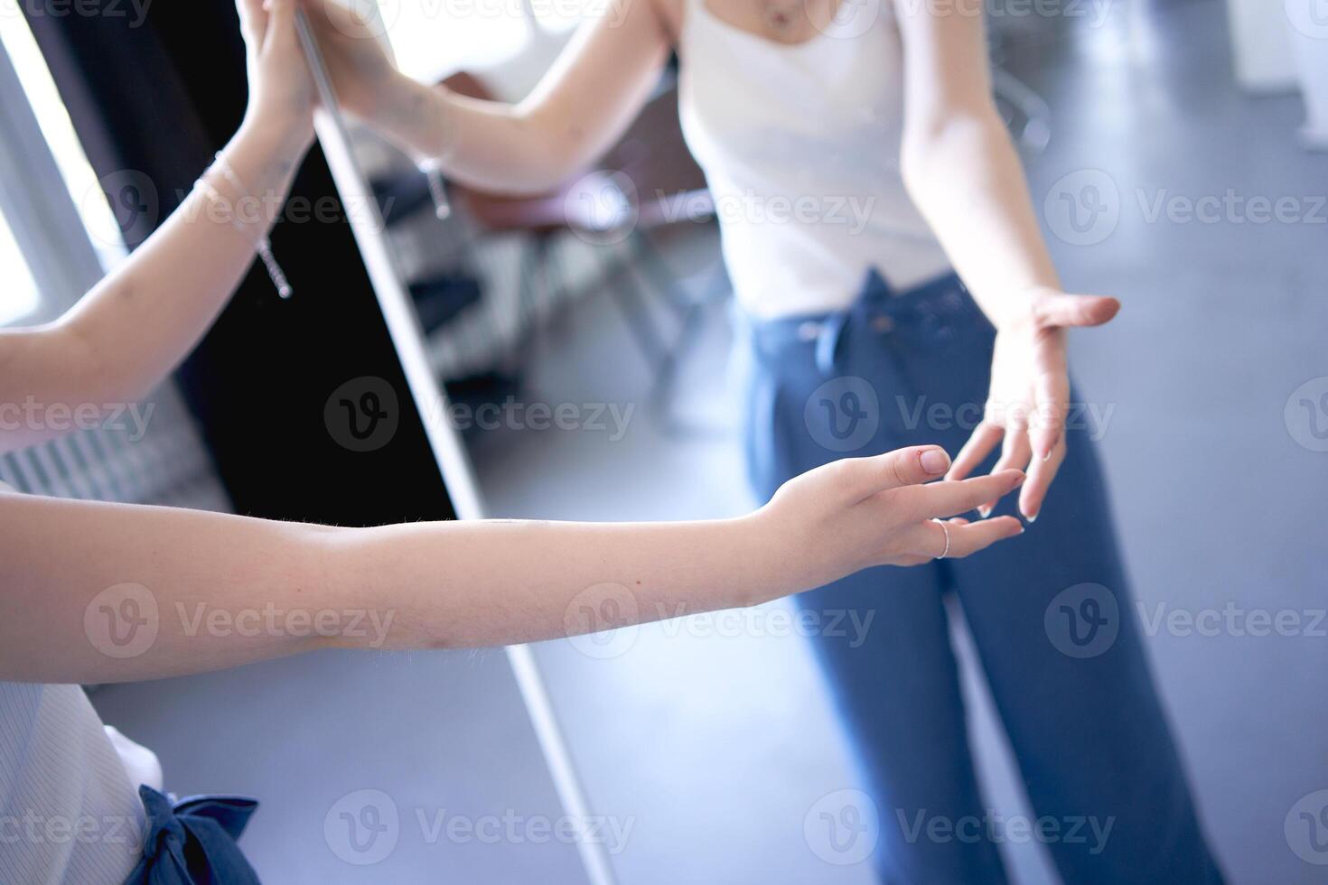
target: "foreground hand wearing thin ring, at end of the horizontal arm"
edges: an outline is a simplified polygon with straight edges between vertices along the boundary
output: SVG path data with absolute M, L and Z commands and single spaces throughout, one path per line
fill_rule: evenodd
M 1017 470 L 931 482 L 948 467 L 950 456 L 939 446 L 915 446 L 839 460 L 789 480 L 754 515 L 769 560 L 801 590 L 875 565 L 968 556 L 1024 531 L 1013 516 L 939 525 L 936 519 L 971 511 L 1024 482 Z M 785 556 L 790 559 L 784 561 Z

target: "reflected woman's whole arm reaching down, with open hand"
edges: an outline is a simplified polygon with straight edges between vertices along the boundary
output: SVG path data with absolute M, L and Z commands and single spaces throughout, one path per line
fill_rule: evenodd
M 1028 467 L 1020 510 L 1032 520 L 1065 456 L 1065 328 L 1101 325 L 1120 303 L 1061 291 L 992 98 L 981 1 L 898 0 L 895 9 L 904 42 L 904 183 L 999 330 L 985 419 L 951 475 L 967 476 L 1004 441 L 996 468 Z

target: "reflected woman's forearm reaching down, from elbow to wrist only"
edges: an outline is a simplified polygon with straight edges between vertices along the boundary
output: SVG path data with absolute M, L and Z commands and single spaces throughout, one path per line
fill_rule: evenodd
M 910 130 L 904 182 L 955 269 L 997 328 L 1027 317 L 1060 281 L 1004 123 L 979 107 Z

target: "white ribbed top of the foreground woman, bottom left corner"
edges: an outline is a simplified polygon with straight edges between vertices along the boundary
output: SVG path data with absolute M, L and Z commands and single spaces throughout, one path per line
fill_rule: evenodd
M 161 788 L 157 758 L 82 687 L 0 682 L 0 882 L 121 885 L 142 856 L 139 783 Z

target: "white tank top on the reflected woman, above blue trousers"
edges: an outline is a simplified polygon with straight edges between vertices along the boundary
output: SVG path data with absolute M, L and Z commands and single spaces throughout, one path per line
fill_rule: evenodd
M 950 271 L 904 191 L 903 44 L 892 0 L 842 0 L 785 45 L 687 0 L 683 134 L 716 202 L 738 304 L 760 317 L 849 306 L 870 268 L 895 289 Z

